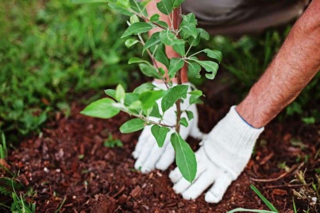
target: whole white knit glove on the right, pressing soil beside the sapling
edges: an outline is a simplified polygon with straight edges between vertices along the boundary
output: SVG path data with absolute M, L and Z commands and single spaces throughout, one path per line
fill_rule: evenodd
M 196 152 L 197 173 L 192 184 L 182 177 L 178 168 L 170 172 L 173 190 L 181 193 L 184 199 L 196 199 L 213 184 L 205 194 L 205 201 L 219 202 L 248 163 L 264 127 L 253 128 L 239 116 L 235 108 L 232 106 L 201 142 L 203 145 Z

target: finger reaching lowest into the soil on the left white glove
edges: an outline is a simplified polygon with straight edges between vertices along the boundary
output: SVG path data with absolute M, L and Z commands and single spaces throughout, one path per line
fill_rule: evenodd
M 159 158 L 161 157 L 161 155 L 164 153 L 164 151 L 166 150 L 166 147 L 169 144 L 169 138 L 164 141 L 164 145 L 163 147 L 158 147 L 158 144 L 156 142 L 156 140 L 153 140 L 154 145 L 152 147 L 152 149 L 149 152 L 149 156 L 147 157 L 146 161 L 144 162 L 144 164 L 141 167 L 141 172 L 142 173 L 148 173 L 151 170 L 155 169 L 155 165 L 157 163 L 157 161 L 159 160 Z

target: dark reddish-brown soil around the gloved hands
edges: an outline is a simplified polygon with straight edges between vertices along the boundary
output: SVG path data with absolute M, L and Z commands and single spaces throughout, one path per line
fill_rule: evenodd
M 208 94 L 206 104 L 198 106 L 199 127 L 204 132 L 212 129 L 235 100 L 228 94 L 210 95 L 211 91 L 212 88 L 204 87 L 204 93 Z M 187 201 L 174 194 L 168 179 L 169 170 L 141 174 L 133 169 L 131 153 L 140 132 L 121 134 L 118 131 L 128 115 L 120 113 L 108 120 L 89 118 L 79 114 L 83 107 L 74 103 L 69 118 L 57 116 L 47 124 L 41 137 L 22 141 L 8 158 L 12 170 L 20 171 L 18 179 L 37 190 L 34 197 L 36 212 L 54 212 L 64 197 L 67 199 L 61 212 L 184 213 L 226 212 L 237 207 L 268 209 L 250 189 L 251 184 L 280 212 L 293 212 L 293 190 L 307 197 L 298 199 L 295 196 L 298 212 L 308 208 L 312 208 L 309 212 L 319 211 L 319 204 L 310 205 L 311 197 L 315 196 L 311 186 L 301 186 L 300 181 L 292 180 L 296 179 L 298 171 L 303 171 L 307 184 L 316 183 L 314 169 L 320 167 L 319 156 L 315 159 L 320 147 L 320 126 L 304 125 L 299 121 L 269 124 L 258 140 L 248 166 L 228 188 L 223 201 L 209 204 L 204 201 L 204 195 Z M 124 146 L 105 147 L 104 140 L 109 133 L 120 139 Z M 301 141 L 304 148 L 298 147 L 302 146 L 300 143 L 293 146 L 292 140 Z M 189 138 L 188 142 L 194 150 L 198 148 L 199 141 Z M 276 181 L 252 180 L 277 178 L 285 173 L 279 164 L 285 162 L 290 169 L 305 159 L 304 165 Z M 171 165 L 170 170 L 174 167 Z

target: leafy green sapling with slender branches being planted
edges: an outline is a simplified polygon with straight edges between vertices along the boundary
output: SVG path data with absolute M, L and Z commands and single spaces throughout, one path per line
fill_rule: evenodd
M 102 0 L 77 0 L 82 2 L 94 2 Z M 208 40 L 209 34 L 197 27 L 197 20 L 193 13 L 181 15 L 182 20 L 178 28 L 173 27 L 172 16 L 174 10 L 179 10 L 184 0 L 162 0 L 156 4 L 158 10 L 168 15 L 170 23 L 159 20 L 159 14 L 149 16 L 146 5 L 149 1 L 137 2 L 136 0 L 106 0 L 109 6 L 124 15 L 130 16 L 128 27 L 121 38 L 127 38 L 125 45 L 132 48 L 134 45 L 142 45 L 142 54 L 147 53 L 150 61 L 140 57 L 132 57 L 128 64 L 137 63 L 141 72 L 148 76 L 163 81 L 166 89 L 157 88 L 151 83 L 144 83 L 133 90 L 133 93 L 125 93 L 123 87 L 118 85 L 116 90 L 107 89 L 106 94 L 111 98 L 103 98 L 91 103 L 81 113 L 98 118 L 111 118 L 124 111 L 135 117 L 125 122 L 121 127 L 122 133 L 139 131 L 145 126 L 151 125 L 151 133 L 155 137 L 158 146 L 162 147 L 166 137 L 170 137 L 172 146 L 176 152 L 176 164 L 183 177 L 192 182 L 196 176 L 196 157 L 190 146 L 180 136 L 180 125 L 188 126 L 193 119 L 193 114 L 188 109 L 181 109 L 180 103 L 185 102 L 188 96 L 189 104 L 201 102 L 200 90 L 192 90 L 189 85 L 181 84 L 181 68 L 188 66 L 188 72 L 196 78 L 200 78 L 201 67 L 207 72 L 205 77 L 213 79 L 217 73 L 222 54 L 218 50 L 203 49 L 196 53 L 190 53 L 192 47 L 197 46 L 201 39 Z M 151 29 L 160 30 L 152 34 L 148 40 L 144 40 L 141 34 Z M 134 36 L 134 37 L 133 37 Z M 165 45 L 171 46 L 179 57 L 170 60 L 165 54 Z M 212 60 L 199 60 L 196 55 L 204 53 Z M 170 79 L 165 76 L 164 69 L 158 67 L 156 61 L 168 68 Z M 174 85 L 172 78 L 177 78 L 178 85 Z M 161 99 L 161 110 L 156 101 Z M 159 101 L 158 101 L 159 102 Z M 176 105 L 176 124 L 163 123 L 163 117 L 167 110 Z M 181 117 L 184 112 L 184 117 Z M 158 118 L 155 120 L 155 118 Z M 159 121 L 160 119 L 160 121 Z M 171 136 L 167 135 L 168 133 Z

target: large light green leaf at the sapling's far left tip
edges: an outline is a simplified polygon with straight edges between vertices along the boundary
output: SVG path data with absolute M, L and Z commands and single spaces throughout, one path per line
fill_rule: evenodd
M 115 103 L 111 98 L 102 98 L 90 103 L 80 113 L 95 118 L 112 118 L 120 112 L 120 109 L 114 107 Z

